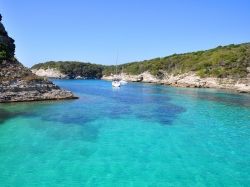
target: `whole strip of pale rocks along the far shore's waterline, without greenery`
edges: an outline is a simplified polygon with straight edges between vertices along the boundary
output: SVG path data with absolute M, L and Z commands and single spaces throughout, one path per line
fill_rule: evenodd
M 52 79 L 70 79 L 69 76 L 62 74 L 59 70 L 52 69 L 32 69 L 32 72 L 38 76 L 43 76 Z M 169 85 L 173 87 L 186 87 L 186 88 L 215 88 L 215 89 L 230 89 L 236 90 L 239 93 L 250 94 L 250 78 L 215 78 L 207 77 L 201 78 L 196 75 L 195 72 L 188 72 L 180 75 L 168 75 L 165 74 L 163 77 L 158 78 L 150 74 L 149 72 L 144 72 L 139 75 L 127 75 L 119 74 L 117 75 L 119 79 L 126 79 L 128 82 L 141 82 L 141 83 L 154 83 L 158 85 Z M 72 79 L 72 78 L 71 78 Z M 92 77 L 80 77 L 76 76 L 73 79 L 97 79 Z M 114 75 L 103 76 L 102 80 L 111 81 L 114 79 Z

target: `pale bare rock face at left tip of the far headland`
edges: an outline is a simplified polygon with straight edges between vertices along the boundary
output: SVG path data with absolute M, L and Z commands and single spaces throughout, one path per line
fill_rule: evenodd
M 55 79 L 69 79 L 68 75 L 61 73 L 56 68 L 49 68 L 49 69 L 32 69 L 32 73 L 41 76 L 41 77 L 48 77 L 48 78 L 55 78 Z

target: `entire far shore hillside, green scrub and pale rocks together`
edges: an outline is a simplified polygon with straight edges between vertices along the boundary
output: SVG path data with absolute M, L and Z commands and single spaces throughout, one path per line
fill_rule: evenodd
M 250 93 L 250 43 L 121 64 L 118 78 L 176 87 L 233 89 Z M 115 66 L 82 62 L 46 62 L 32 71 L 54 78 L 112 80 Z

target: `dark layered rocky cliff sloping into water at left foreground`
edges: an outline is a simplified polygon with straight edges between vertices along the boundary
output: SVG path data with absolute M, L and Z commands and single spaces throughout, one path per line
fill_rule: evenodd
M 38 77 L 14 57 L 14 40 L 8 36 L 0 15 L 0 102 L 78 98 L 51 81 Z

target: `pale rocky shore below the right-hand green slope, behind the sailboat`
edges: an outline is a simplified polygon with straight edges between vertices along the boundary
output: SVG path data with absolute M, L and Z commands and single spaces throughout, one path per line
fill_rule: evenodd
M 249 72 L 250 73 L 250 72 Z M 189 88 L 217 88 L 217 89 L 232 89 L 240 93 L 250 93 L 250 77 L 232 79 L 232 78 L 200 78 L 196 72 L 188 72 L 181 75 L 169 75 L 164 73 L 164 76 L 157 77 L 151 75 L 149 72 L 144 72 L 140 75 L 118 75 L 119 79 L 126 79 L 130 82 L 144 82 L 155 83 L 161 85 L 170 85 L 175 87 L 189 87 Z M 112 80 L 114 76 L 103 76 L 104 80 Z

